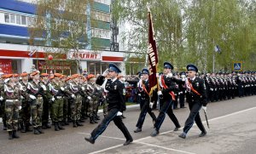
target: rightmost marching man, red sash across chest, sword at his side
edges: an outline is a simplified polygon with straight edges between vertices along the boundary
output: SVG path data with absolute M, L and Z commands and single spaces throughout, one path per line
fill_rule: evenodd
M 189 129 L 193 126 L 194 121 L 198 128 L 201 130 L 201 134 L 199 137 L 205 136 L 207 134 L 206 129 L 204 128 L 203 124 L 201 123 L 200 113 L 199 111 L 201 108 L 204 111 L 207 111 L 207 88 L 204 80 L 199 77 L 195 77 L 196 72 L 198 69 L 196 66 L 190 64 L 187 66 L 188 70 L 188 80 L 186 81 L 187 84 L 187 101 L 189 102 L 189 117 L 185 122 L 185 126 L 183 128 L 183 133 L 179 134 L 180 138 L 185 139 Z

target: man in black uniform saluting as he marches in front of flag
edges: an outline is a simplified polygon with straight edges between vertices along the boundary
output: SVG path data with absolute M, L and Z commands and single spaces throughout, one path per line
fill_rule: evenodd
M 119 68 L 114 64 L 109 64 L 108 71 L 104 71 L 102 76 L 97 77 L 96 83 L 102 85 L 105 80 L 105 76 L 109 74 L 110 78 L 106 83 L 107 102 L 108 102 L 108 115 L 104 117 L 102 123 L 100 123 L 90 134 L 90 138 L 84 138 L 91 144 L 95 143 L 97 137 L 104 132 L 108 127 L 108 124 L 113 120 L 113 123 L 122 131 L 125 135 L 126 141 L 124 145 L 129 145 L 133 139 L 125 124 L 122 122 L 122 111 L 125 111 L 125 85 L 121 83 L 117 77 Z

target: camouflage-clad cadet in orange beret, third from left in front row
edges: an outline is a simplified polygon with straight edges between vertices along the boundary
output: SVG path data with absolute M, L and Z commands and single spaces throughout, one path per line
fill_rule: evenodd
M 27 94 L 31 103 L 32 126 L 34 134 L 44 134 L 42 129 L 43 95 L 46 91 L 44 84 L 40 83 L 39 71 L 31 73 L 32 81 L 27 83 Z

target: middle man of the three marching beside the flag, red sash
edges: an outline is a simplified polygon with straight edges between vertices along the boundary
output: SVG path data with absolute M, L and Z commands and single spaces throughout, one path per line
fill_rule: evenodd
M 162 123 L 165 120 L 166 113 L 171 118 L 172 122 L 175 125 L 174 131 L 177 131 L 180 128 L 180 124 L 177 121 L 177 117 L 174 115 L 172 111 L 173 100 L 175 100 L 174 92 L 177 90 L 177 83 L 184 83 L 182 80 L 172 77 L 172 69 L 173 66 L 169 62 L 164 63 L 164 74 L 160 78 L 160 85 L 162 90 L 159 90 L 157 94 L 160 97 L 160 101 L 162 101 L 162 106 L 160 107 L 160 113 L 156 118 L 156 122 L 154 123 L 154 130 L 150 134 L 152 137 L 159 134 L 159 129 Z

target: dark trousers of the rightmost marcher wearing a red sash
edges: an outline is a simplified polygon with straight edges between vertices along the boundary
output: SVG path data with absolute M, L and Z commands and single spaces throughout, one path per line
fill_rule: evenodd
M 199 101 L 189 102 L 189 117 L 185 122 L 185 126 L 183 128 L 184 133 L 188 133 L 189 129 L 193 126 L 194 121 L 198 128 L 200 128 L 201 132 L 207 132 L 204 125 L 201 123 L 201 117 L 199 111 L 201 110 L 202 104 Z

